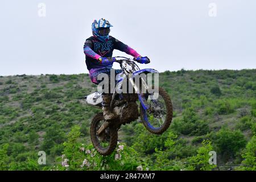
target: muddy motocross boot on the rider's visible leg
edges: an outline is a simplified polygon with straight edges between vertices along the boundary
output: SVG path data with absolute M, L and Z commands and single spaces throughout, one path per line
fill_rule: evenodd
M 102 111 L 105 120 L 111 120 L 115 118 L 115 114 L 110 111 L 110 102 L 112 100 L 112 94 L 102 94 Z

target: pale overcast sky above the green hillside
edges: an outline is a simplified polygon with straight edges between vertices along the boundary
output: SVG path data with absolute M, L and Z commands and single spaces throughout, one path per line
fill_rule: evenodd
M 110 35 L 150 57 L 141 68 L 256 68 L 255 0 L 2 0 L 0 75 L 88 73 L 83 46 L 100 18 L 113 24 Z

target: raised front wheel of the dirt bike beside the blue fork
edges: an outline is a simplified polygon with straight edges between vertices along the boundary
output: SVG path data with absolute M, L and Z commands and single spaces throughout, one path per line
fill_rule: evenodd
M 172 102 L 168 93 L 159 87 L 159 97 L 155 100 L 149 100 L 148 94 L 145 94 L 149 109 L 140 106 L 141 119 L 143 125 L 153 134 L 162 134 L 168 129 L 172 122 Z

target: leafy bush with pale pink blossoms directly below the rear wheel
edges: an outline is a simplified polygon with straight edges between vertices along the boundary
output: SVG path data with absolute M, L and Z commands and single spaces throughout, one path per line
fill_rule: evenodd
M 67 142 L 63 143 L 64 152 L 56 158 L 54 170 L 135 170 L 139 166 L 138 154 L 133 148 L 118 143 L 115 151 L 109 156 L 102 156 L 93 148 L 79 142 L 80 127 L 73 126 L 68 134 Z

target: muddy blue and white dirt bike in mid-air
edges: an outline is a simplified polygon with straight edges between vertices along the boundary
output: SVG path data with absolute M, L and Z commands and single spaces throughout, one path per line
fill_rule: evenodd
M 153 134 L 162 134 L 168 129 L 172 121 L 172 102 L 167 92 L 163 88 L 158 88 L 158 98 L 150 99 L 154 93 L 142 93 L 142 86 L 134 83 L 134 77 L 142 73 L 158 73 L 155 69 L 139 69 L 135 59 L 117 56 L 110 59 L 120 64 L 121 73 L 117 74 L 117 82 L 121 83 L 124 78 L 130 77 L 129 84 L 133 86 L 135 93 L 113 92 L 110 109 L 117 116 L 113 121 L 105 121 L 103 114 L 96 114 L 90 126 L 90 137 L 93 146 L 101 155 L 110 155 L 115 150 L 118 140 L 118 130 L 121 125 L 126 125 L 141 117 L 141 122 L 148 131 Z M 141 78 L 141 82 L 147 88 L 147 80 Z M 85 96 L 86 104 L 102 108 L 102 97 L 100 92 L 94 92 Z M 138 106 L 138 104 L 139 106 Z M 138 107 L 140 111 L 138 111 Z

